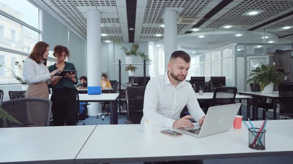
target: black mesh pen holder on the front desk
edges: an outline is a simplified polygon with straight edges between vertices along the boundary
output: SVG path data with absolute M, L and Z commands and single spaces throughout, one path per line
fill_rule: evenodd
M 259 132 L 260 128 L 249 128 L 249 143 L 248 147 L 255 150 L 265 150 L 266 149 L 266 142 L 265 142 L 265 136 L 266 136 L 266 130 L 263 130 Z

